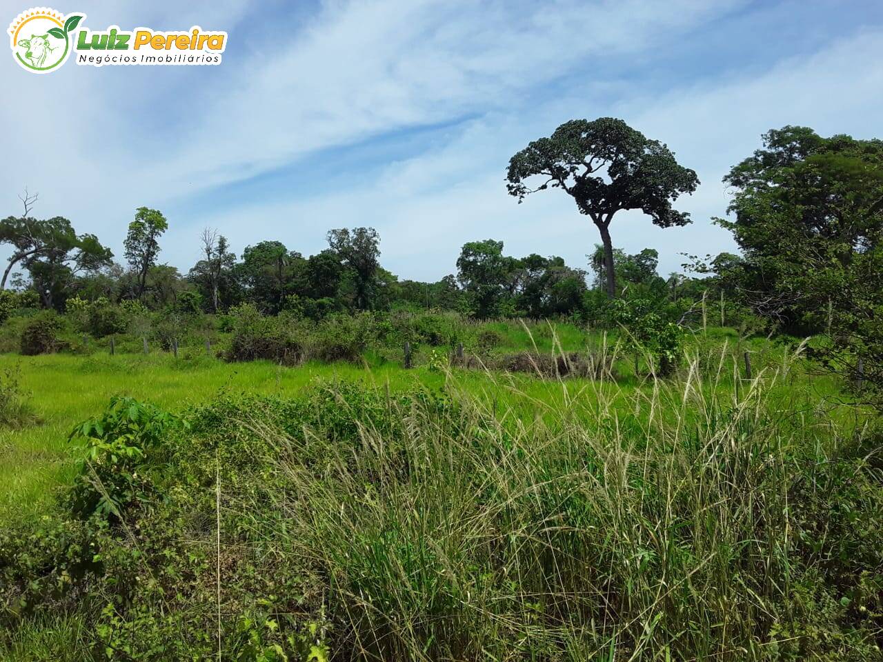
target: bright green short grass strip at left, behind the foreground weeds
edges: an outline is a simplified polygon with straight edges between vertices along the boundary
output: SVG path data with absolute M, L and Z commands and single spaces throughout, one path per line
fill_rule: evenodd
M 371 372 L 357 366 L 280 368 L 266 361 L 227 364 L 215 359 L 177 360 L 167 354 L 0 355 L 0 370 L 19 365 L 21 387 L 41 420 L 22 430 L 0 431 L 0 522 L 32 516 L 47 505 L 52 488 L 72 478 L 73 425 L 102 410 L 112 395 L 131 395 L 168 410 L 206 402 L 222 390 L 295 395 L 317 378 L 389 381 L 404 387 L 419 379 L 395 365 Z

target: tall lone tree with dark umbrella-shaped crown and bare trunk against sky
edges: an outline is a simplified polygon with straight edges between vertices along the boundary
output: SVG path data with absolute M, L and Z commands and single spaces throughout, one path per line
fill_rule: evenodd
M 527 180 L 541 177 L 531 186 Z M 532 141 L 509 161 L 509 194 L 521 202 L 547 188 L 561 188 L 598 228 L 604 244 L 608 297 L 616 281 L 610 222 L 622 209 L 640 209 L 661 228 L 686 225 L 690 214 L 672 202 L 692 193 L 696 173 L 675 161 L 675 154 L 658 140 L 647 139 L 621 119 L 600 117 L 571 120 L 548 138 Z

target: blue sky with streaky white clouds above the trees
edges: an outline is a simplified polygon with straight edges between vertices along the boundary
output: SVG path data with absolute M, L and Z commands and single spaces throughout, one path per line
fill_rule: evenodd
M 372 226 L 383 266 L 415 280 L 455 273 L 460 247 L 487 238 L 585 268 L 589 219 L 559 190 L 517 204 L 505 170 L 563 122 L 621 117 L 701 181 L 675 204 L 691 225 L 611 224 L 616 247 L 656 249 L 668 275 L 682 252 L 736 250 L 712 222 L 721 177 L 762 133 L 883 138 L 879 0 L 49 1 L 93 30 L 229 34 L 218 66 L 70 59 L 37 76 L 0 57 L 0 217 L 27 186 L 33 215 L 122 261 L 136 207 L 160 209 L 160 261 L 182 273 L 206 227 L 240 255 L 275 239 L 306 256 L 328 229 Z

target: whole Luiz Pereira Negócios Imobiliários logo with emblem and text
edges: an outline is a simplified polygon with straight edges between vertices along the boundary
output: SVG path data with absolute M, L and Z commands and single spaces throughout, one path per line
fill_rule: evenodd
M 221 64 L 227 33 L 189 30 L 162 32 L 148 27 L 123 30 L 80 26 L 86 14 L 63 15 L 49 7 L 22 11 L 9 26 L 12 56 L 26 71 L 54 71 L 74 54 L 77 64 Z M 77 29 L 80 26 L 80 29 Z

